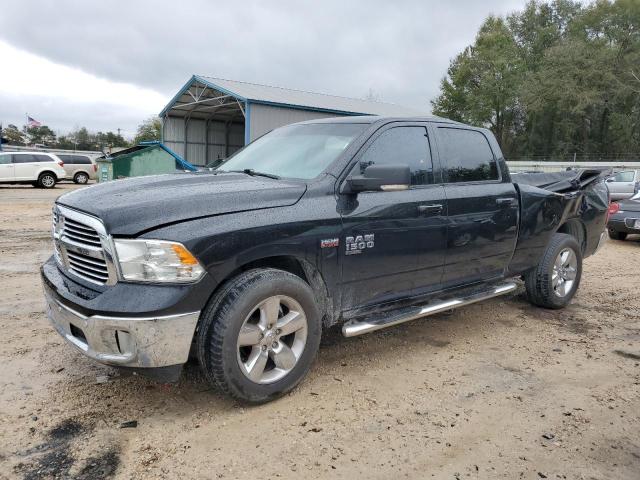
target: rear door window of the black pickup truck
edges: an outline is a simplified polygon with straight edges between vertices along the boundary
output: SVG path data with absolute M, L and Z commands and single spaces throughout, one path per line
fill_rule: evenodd
M 498 180 L 498 166 L 486 137 L 475 130 L 438 128 L 438 148 L 444 158 L 446 181 Z

